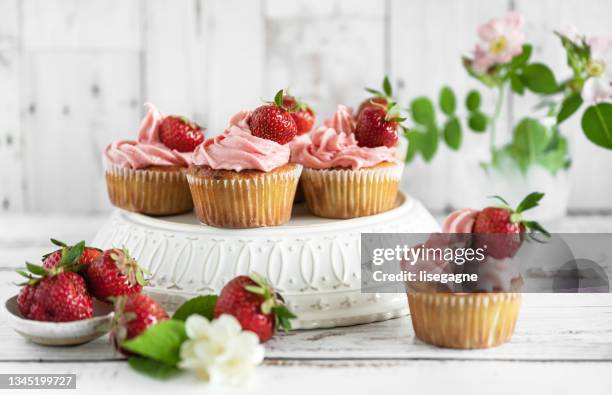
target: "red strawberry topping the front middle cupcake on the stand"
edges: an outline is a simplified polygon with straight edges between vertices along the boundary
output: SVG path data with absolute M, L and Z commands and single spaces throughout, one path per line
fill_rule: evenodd
M 283 91 L 274 96 L 274 103 L 257 107 L 249 118 L 253 136 L 287 144 L 297 135 L 298 128 L 291 113 L 283 108 Z

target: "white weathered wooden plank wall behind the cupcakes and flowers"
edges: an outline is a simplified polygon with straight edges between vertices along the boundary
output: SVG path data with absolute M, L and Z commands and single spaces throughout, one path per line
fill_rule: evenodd
M 476 85 L 460 55 L 478 24 L 510 9 L 527 17 L 534 57 L 561 74 L 553 29 L 612 35 L 609 0 L 0 0 L 0 212 L 107 210 L 101 151 L 135 136 L 145 101 L 217 133 L 280 87 L 320 116 L 355 105 L 385 73 L 402 104 L 444 83 L 463 96 Z M 503 122 L 527 110 L 514 101 Z M 578 126 L 564 128 L 570 205 L 611 209 L 612 152 Z M 430 208 L 469 185 L 459 168 L 486 137 L 467 137 L 460 154 L 443 148 L 407 169 L 410 192 Z

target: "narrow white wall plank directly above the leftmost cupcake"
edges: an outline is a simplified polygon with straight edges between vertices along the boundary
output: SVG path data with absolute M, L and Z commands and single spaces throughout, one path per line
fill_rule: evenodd
M 181 114 L 207 125 L 208 3 L 165 0 L 143 3 L 144 101 L 166 114 Z

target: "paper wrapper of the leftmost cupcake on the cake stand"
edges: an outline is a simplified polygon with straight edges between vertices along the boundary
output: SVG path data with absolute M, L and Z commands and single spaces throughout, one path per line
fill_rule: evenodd
M 182 170 L 157 171 L 106 165 L 106 186 L 113 205 L 148 215 L 174 215 L 193 209 Z

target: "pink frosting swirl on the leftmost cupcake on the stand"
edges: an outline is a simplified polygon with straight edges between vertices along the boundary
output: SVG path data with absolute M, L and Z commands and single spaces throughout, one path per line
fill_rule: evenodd
M 147 114 L 140 123 L 138 141 L 119 140 L 104 150 L 104 158 L 113 165 L 144 169 L 149 166 L 187 166 L 190 152 L 166 147 L 159 139 L 159 124 L 164 119 L 159 110 L 146 103 Z

